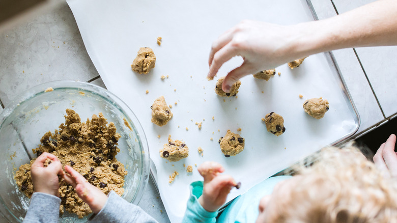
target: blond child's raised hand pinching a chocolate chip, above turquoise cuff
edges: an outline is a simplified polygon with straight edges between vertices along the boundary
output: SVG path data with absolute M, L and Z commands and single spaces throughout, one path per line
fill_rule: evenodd
M 203 195 L 198 202 L 207 211 L 214 212 L 224 204 L 236 182 L 229 175 L 219 175 L 224 169 L 217 162 L 204 162 L 197 170 L 204 177 Z

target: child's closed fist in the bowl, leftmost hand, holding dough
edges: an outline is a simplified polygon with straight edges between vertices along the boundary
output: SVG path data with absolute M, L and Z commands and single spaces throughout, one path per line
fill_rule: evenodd
M 51 163 L 44 167 L 46 159 L 50 159 Z M 44 152 L 32 164 L 31 169 L 32 183 L 35 192 L 48 193 L 59 197 L 59 178 L 63 176 L 62 164 L 56 156 Z

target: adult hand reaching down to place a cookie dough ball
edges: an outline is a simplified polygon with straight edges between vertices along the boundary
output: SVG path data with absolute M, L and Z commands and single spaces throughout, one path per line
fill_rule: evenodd
M 226 75 L 222 90 L 229 92 L 241 77 L 273 69 L 302 56 L 290 50 L 303 31 L 296 26 L 283 26 L 260 21 L 244 20 L 223 33 L 212 43 L 208 78 L 212 79 L 223 63 L 236 55 L 243 64 Z

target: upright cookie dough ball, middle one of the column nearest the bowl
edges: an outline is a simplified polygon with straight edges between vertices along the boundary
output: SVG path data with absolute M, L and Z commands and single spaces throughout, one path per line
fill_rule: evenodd
M 158 126 L 167 124 L 173 117 L 171 109 L 165 103 L 164 96 L 157 98 L 150 108 L 152 109 L 152 122 Z

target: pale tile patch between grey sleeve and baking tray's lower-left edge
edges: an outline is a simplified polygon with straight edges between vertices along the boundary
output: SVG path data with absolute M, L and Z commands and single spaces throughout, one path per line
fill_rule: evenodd
M 146 211 L 146 213 L 148 213 L 158 222 L 164 222 L 164 223 L 170 222 L 168 215 L 165 212 L 163 202 L 160 199 L 160 195 L 157 192 L 152 179 L 149 179 L 148 186 L 146 187 L 146 191 L 142 196 L 142 199 L 140 199 L 138 206 L 142 208 L 144 211 Z

